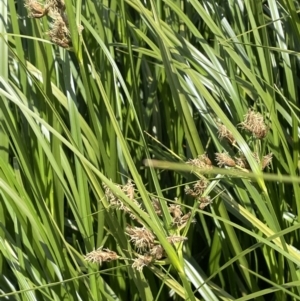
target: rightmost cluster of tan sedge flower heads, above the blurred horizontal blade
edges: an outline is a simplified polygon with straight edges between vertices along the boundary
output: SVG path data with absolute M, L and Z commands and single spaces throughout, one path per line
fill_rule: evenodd
M 238 125 L 243 130 L 246 130 L 252 134 L 255 139 L 264 139 L 269 131 L 269 128 L 264 122 L 263 116 L 259 112 L 255 112 L 251 109 L 248 110 L 245 115 L 244 121 Z M 235 140 L 232 133 L 223 124 L 218 124 L 219 138 L 225 138 L 232 145 L 235 145 Z M 264 170 L 272 162 L 272 153 L 269 153 L 262 158 L 257 152 L 252 153 L 253 158 L 258 164 L 260 164 L 261 169 Z M 232 158 L 228 153 L 216 153 L 216 161 L 219 167 L 236 167 L 242 169 L 250 169 L 248 161 L 243 153 L 239 152 L 238 157 Z

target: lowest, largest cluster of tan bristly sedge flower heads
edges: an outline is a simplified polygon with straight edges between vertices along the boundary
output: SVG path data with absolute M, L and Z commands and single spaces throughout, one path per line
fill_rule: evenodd
M 132 181 L 128 181 L 125 185 L 116 185 L 119 187 L 126 196 L 139 208 L 142 208 L 141 204 L 135 199 L 134 195 L 134 184 Z M 125 233 L 129 237 L 129 241 L 134 246 L 137 255 L 133 259 L 132 267 L 141 271 L 145 266 L 154 263 L 156 260 L 160 260 L 166 257 L 165 250 L 162 245 L 159 243 L 155 234 L 148 228 L 146 228 L 142 221 L 132 212 L 132 210 L 124 204 L 124 202 L 116 196 L 113 191 L 103 183 L 103 188 L 105 191 L 105 196 L 112 208 L 122 210 L 128 214 L 131 220 L 136 221 L 139 226 L 127 226 Z M 162 216 L 162 208 L 158 198 L 152 198 L 153 208 L 158 216 Z M 168 210 L 172 216 L 172 225 L 178 229 L 184 227 L 187 224 L 191 217 L 191 213 L 184 214 L 181 210 L 181 206 L 177 204 L 170 204 Z M 168 242 L 172 245 L 175 245 L 179 242 L 187 240 L 186 237 L 180 235 L 170 235 L 166 237 Z M 102 247 L 88 253 L 85 256 L 85 259 L 90 262 L 97 262 L 102 264 L 105 261 L 121 259 L 117 253 L 109 250 L 103 249 Z

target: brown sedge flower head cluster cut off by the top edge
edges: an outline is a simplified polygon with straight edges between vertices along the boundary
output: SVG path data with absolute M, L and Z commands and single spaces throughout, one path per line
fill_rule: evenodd
M 25 0 L 28 16 L 40 19 L 49 16 L 52 19 L 51 30 L 47 33 L 50 40 L 63 48 L 71 46 L 69 23 L 65 13 L 64 0 L 46 0 L 42 5 L 36 0 Z

